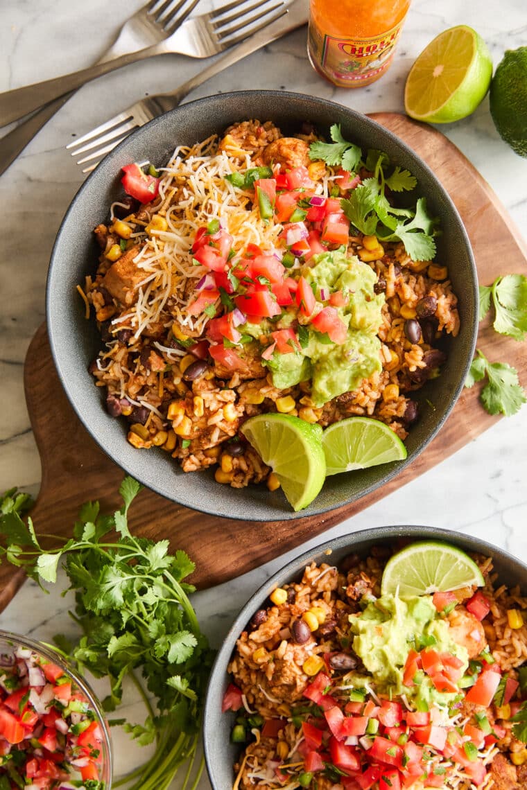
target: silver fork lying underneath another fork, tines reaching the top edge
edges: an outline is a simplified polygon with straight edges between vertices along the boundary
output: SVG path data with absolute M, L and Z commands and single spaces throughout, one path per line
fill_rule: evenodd
M 175 5 L 174 2 L 175 0 L 165 0 L 165 2 L 150 0 L 146 6 L 139 9 L 122 25 L 114 43 L 97 62 L 104 63 L 119 58 L 120 55 L 152 47 L 156 43 L 160 43 L 163 38 L 171 36 L 198 5 L 198 0 L 179 0 Z M 7 170 L 18 154 L 28 145 L 28 142 L 55 115 L 55 112 L 60 110 L 73 96 L 73 93 L 74 91 L 71 91 L 47 103 L 2 137 L 0 175 Z

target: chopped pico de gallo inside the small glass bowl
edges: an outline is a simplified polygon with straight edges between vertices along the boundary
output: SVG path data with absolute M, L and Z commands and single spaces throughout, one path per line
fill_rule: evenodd
M 99 717 L 70 675 L 0 647 L 0 790 L 104 790 Z

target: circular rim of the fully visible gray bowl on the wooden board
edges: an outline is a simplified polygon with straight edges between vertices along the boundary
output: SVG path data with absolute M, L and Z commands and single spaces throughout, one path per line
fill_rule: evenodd
M 46 316 L 47 316 L 47 336 L 49 338 L 49 344 L 51 348 L 51 356 L 53 359 L 53 363 L 55 365 L 55 371 L 57 371 L 58 378 L 61 382 L 62 389 L 66 393 L 66 397 L 70 403 L 70 406 L 73 408 L 74 412 L 77 415 L 77 418 L 81 421 L 85 430 L 88 431 L 88 434 L 93 438 L 96 442 L 97 446 L 102 450 L 107 457 L 111 459 L 116 465 L 118 465 L 126 474 L 134 476 L 141 484 L 148 487 L 151 491 L 156 492 L 156 494 L 167 498 L 171 502 L 175 502 L 181 506 L 188 507 L 190 509 L 199 510 L 197 512 L 209 513 L 210 515 L 217 516 L 217 517 L 225 517 L 234 520 L 243 520 L 247 521 L 247 513 L 243 512 L 243 508 L 235 508 L 235 498 L 228 498 L 228 502 L 230 508 L 228 506 L 221 506 L 218 507 L 216 501 L 209 502 L 207 497 L 197 498 L 193 504 L 188 503 L 188 501 L 181 501 L 180 499 L 176 499 L 175 496 L 178 495 L 178 487 L 177 485 L 169 487 L 168 483 L 166 483 L 165 476 L 162 476 L 160 480 L 158 480 L 157 476 L 152 473 L 148 482 L 146 480 L 144 472 L 141 470 L 137 470 L 135 468 L 136 464 L 134 463 L 135 458 L 131 458 L 130 461 L 127 460 L 124 456 L 124 452 L 126 450 L 124 444 L 119 445 L 118 447 L 112 447 L 111 442 L 104 440 L 104 442 L 100 438 L 100 431 L 97 431 L 96 427 L 92 426 L 91 422 L 88 422 L 85 419 L 85 412 L 83 411 L 81 402 L 77 403 L 75 398 L 73 397 L 73 393 L 70 392 L 70 375 L 68 371 L 68 360 L 64 357 L 64 352 L 62 351 L 62 344 L 63 341 L 60 339 L 60 332 L 58 331 L 57 336 L 55 336 L 55 323 L 54 319 L 52 318 L 54 314 L 53 309 L 53 280 L 55 276 L 55 269 L 59 268 L 59 258 L 58 258 L 58 251 L 60 250 L 61 242 L 62 242 L 62 235 L 66 232 L 66 226 L 70 220 L 70 215 L 73 213 L 74 209 L 76 209 L 77 204 L 84 199 L 85 191 L 89 189 L 92 179 L 104 177 L 104 175 L 113 173 L 113 177 L 115 177 L 115 172 L 117 171 L 115 168 L 115 160 L 119 160 L 119 156 L 122 151 L 126 150 L 126 147 L 130 145 L 130 141 L 134 141 L 137 137 L 145 134 L 145 129 L 149 130 L 149 134 L 156 134 L 156 127 L 160 124 L 164 123 L 168 118 L 177 119 L 177 115 L 181 111 L 186 111 L 187 108 L 192 110 L 193 107 L 200 107 L 201 105 L 206 105 L 207 103 L 211 103 L 213 100 L 221 100 L 223 101 L 232 101 L 232 100 L 240 100 L 240 104 L 243 99 L 250 99 L 252 97 L 269 97 L 278 99 L 280 98 L 280 102 L 287 102 L 288 100 L 299 102 L 299 101 L 308 101 L 312 105 L 321 107 L 321 109 L 325 109 L 326 111 L 330 111 L 331 107 L 334 107 L 336 111 L 339 113 L 344 112 L 348 115 L 348 119 L 350 122 L 360 122 L 364 123 L 367 122 L 368 125 L 373 126 L 375 129 L 379 130 L 380 134 L 385 135 L 394 146 L 401 150 L 401 152 L 408 156 L 412 160 L 416 160 L 420 166 L 420 168 L 425 172 L 427 177 L 431 179 L 431 182 L 434 185 L 435 196 L 437 201 L 442 201 L 446 205 L 450 212 L 452 212 L 453 216 L 456 218 L 457 224 L 457 232 L 459 233 L 460 242 L 465 247 L 465 251 L 467 254 L 467 259 L 469 262 L 469 268 L 472 273 L 472 278 L 470 280 L 470 301 L 473 305 L 474 315 L 473 315 L 473 325 L 472 325 L 472 333 L 470 334 L 470 342 L 469 348 L 467 350 L 465 363 L 463 366 L 457 367 L 457 385 L 450 389 L 450 398 L 449 398 L 449 405 L 446 408 L 445 412 L 443 412 L 440 419 L 436 420 L 436 423 L 432 430 L 428 431 L 426 437 L 420 440 L 419 445 L 416 447 L 415 452 L 408 453 L 408 457 L 401 461 L 394 461 L 392 464 L 384 465 L 382 479 L 380 480 L 372 480 L 367 485 L 361 487 L 359 491 L 359 495 L 352 494 L 351 498 L 350 495 L 342 498 L 337 504 L 329 502 L 327 504 L 320 504 L 317 506 L 316 498 L 314 502 L 311 503 L 310 506 L 307 507 L 306 510 L 300 510 L 298 512 L 294 512 L 292 508 L 287 507 L 284 510 L 280 510 L 280 512 L 273 513 L 272 516 L 269 513 L 265 512 L 258 512 L 256 514 L 251 513 L 250 520 L 251 521 L 295 521 L 297 518 L 302 517 L 313 517 L 317 515 L 322 515 L 324 513 L 329 513 L 332 510 L 337 510 L 337 508 L 346 506 L 351 504 L 352 502 L 356 502 L 358 499 L 363 498 L 364 496 L 369 495 L 372 491 L 377 490 L 377 488 L 381 488 L 386 483 L 393 480 L 398 474 L 400 474 L 408 465 L 412 464 L 416 461 L 416 458 L 423 453 L 423 450 L 430 444 L 433 438 L 439 433 L 443 425 L 446 423 L 446 420 L 450 416 L 452 410 L 454 409 L 455 404 L 461 394 L 463 387 L 465 386 L 465 379 L 469 372 L 469 367 L 472 362 L 473 355 L 476 349 L 476 341 L 477 341 L 477 332 L 478 332 L 478 323 L 477 323 L 477 313 L 478 313 L 478 303 L 479 303 L 479 290 L 478 290 L 478 278 L 477 278 L 477 269 L 476 269 L 476 261 L 474 258 L 474 254 L 472 252 L 472 246 L 470 243 L 469 235 L 466 231 L 465 224 L 461 220 L 461 216 L 457 211 L 457 207 L 454 205 L 454 201 L 450 198 L 450 194 L 446 191 L 445 187 L 442 186 L 442 183 L 439 181 L 439 178 L 435 175 L 435 172 L 431 169 L 431 167 L 416 153 L 413 149 L 400 137 L 397 137 L 397 134 L 394 134 L 392 131 L 386 129 L 385 126 L 375 121 L 375 119 L 370 118 L 368 115 L 360 113 L 352 109 L 352 107 L 347 107 L 343 104 L 337 103 L 333 100 L 328 100 L 320 96 L 308 96 L 305 93 L 293 92 L 293 91 L 280 91 L 280 90 L 242 90 L 242 91 L 231 91 L 231 92 L 224 92 L 220 95 L 210 95 L 204 96 L 199 99 L 183 103 L 179 105 L 179 107 L 175 107 L 175 109 L 164 113 L 163 115 L 159 115 L 157 118 L 152 119 L 149 123 L 145 124 L 144 126 L 139 127 L 137 130 L 134 130 L 130 135 L 125 137 L 119 145 L 116 145 L 114 149 L 111 150 L 104 157 L 104 160 L 96 167 L 92 173 L 88 175 L 88 178 L 85 180 L 84 183 L 81 184 L 77 193 L 73 196 L 72 200 L 70 201 L 70 205 L 66 210 L 66 213 L 62 219 L 62 222 L 58 228 L 57 235 L 55 237 L 55 243 L 51 250 L 50 256 L 50 265 L 47 273 L 47 286 L 46 286 Z M 111 168 L 113 167 L 113 171 Z M 119 168 L 117 168 L 119 169 Z M 469 316 L 465 319 L 469 321 Z M 102 406 L 101 406 L 102 408 Z M 126 439 L 123 439 L 123 442 Z M 177 465 L 175 465 L 177 466 Z M 388 468 L 390 467 L 390 468 Z M 140 474 L 137 472 L 140 471 Z M 176 472 L 179 472 L 179 469 L 176 468 Z M 183 472 L 182 472 L 183 473 Z M 198 480 L 196 480 L 198 483 Z M 188 498 L 183 497 L 183 499 L 187 500 Z M 277 510 L 276 508 L 274 510 Z

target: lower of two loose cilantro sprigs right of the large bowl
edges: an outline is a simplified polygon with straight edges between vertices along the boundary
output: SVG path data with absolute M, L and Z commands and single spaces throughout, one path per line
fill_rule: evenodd
M 518 380 L 518 371 L 506 362 L 489 362 L 487 357 L 477 350 L 472 359 L 465 387 L 472 387 L 487 377 L 487 383 L 481 389 L 480 400 L 489 414 L 506 417 L 516 414 L 521 405 L 527 403 L 525 391 Z

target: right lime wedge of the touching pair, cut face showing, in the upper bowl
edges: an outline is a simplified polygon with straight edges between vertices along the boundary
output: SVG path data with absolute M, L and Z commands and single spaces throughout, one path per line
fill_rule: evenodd
M 333 423 L 322 435 L 322 446 L 326 475 L 402 461 L 407 455 L 392 429 L 371 417 L 349 417 Z

